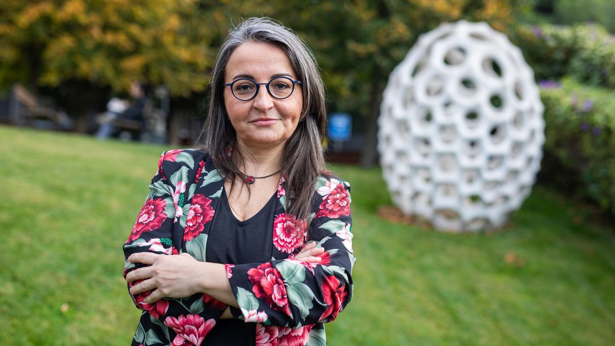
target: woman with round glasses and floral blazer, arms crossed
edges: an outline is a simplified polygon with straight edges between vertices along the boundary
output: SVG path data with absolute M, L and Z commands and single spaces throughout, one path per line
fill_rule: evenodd
M 133 345 L 325 345 L 352 296 L 349 184 L 325 171 L 325 97 L 295 34 L 250 18 L 212 72 L 202 150 L 159 159 L 128 241 Z

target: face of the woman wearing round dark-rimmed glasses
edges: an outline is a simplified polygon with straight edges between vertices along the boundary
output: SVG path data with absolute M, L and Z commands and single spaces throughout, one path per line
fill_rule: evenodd
M 229 57 L 224 84 L 239 78 L 266 83 L 279 76 L 286 76 L 293 81 L 297 79 L 284 50 L 269 42 L 245 42 Z M 302 105 L 303 93 L 299 84 L 283 100 L 274 99 L 264 85 L 249 101 L 236 99 L 231 87 L 224 87 L 226 113 L 237 132 L 237 142 L 247 148 L 273 147 L 285 143 L 295 132 Z

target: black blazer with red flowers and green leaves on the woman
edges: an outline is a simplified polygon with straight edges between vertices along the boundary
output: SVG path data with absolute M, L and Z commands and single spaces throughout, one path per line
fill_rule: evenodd
M 352 297 L 351 196 L 349 183 L 320 177 L 314 187 L 308 222 L 285 211 L 292 203 L 280 181 L 271 261 L 226 264 L 239 308 L 234 318 L 256 324 L 256 345 L 326 345 L 323 323 L 335 320 Z M 149 195 L 124 244 L 127 259 L 135 252 L 188 252 L 205 260 L 213 215 L 223 193 L 223 177 L 200 150 L 162 153 Z M 304 243 L 317 241 L 325 249 L 319 264 L 294 259 Z M 124 277 L 142 267 L 125 261 Z M 129 288 L 132 284 L 129 284 Z M 161 299 L 145 304 L 149 294 L 131 295 L 143 310 L 133 345 L 200 345 L 226 305 L 207 294 Z

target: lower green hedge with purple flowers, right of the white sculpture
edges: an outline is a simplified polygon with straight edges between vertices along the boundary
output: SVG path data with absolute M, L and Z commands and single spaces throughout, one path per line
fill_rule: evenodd
M 543 87 L 541 98 L 543 180 L 572 188 L 615 215 L 615 91 L 564 79 Z

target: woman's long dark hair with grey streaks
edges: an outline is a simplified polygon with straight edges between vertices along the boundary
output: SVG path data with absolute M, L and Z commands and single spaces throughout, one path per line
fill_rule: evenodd
M 209 113 L 200 134 L 203 149 L 212 156 L 216 169 L 231 182 L 237 177 L 245 179 L 234 159 L 227 155 L 229 147 L 235 148 L 237 137 L 224 107 L 224 70 L 233 50 L 249 41 L 279 45 L 302 81 L 303 109 L 297 128 L 284 148 L 282 177 L 286 180 L 287 195 L 292 197 L 287 212 L 298 219 L 307 219 L 316 180 L 325 172 L 321 145 L 327 129 L 325 87 L 314 54 L 290 29 L 271 18 L 248 18 L 229 32 L 212 69 Z

